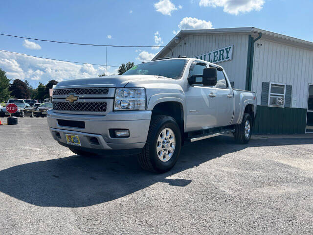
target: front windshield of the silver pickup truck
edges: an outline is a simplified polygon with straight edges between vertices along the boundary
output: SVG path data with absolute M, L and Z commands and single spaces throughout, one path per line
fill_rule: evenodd
M 187 60 L 159 60 L 135 65 L 123 75 L 157 75 L 179 79 Z

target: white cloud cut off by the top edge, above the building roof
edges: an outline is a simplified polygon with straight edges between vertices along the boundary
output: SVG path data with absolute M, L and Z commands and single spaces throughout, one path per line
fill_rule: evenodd
M 224 7 L 224 12 L 238 15 L 240 12 L 260 11 L 264 0 L 200 0 L 200 6 Z

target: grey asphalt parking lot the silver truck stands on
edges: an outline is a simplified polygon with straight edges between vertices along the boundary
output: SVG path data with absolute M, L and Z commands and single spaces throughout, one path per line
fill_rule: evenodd
M 188 143 L 160 175 L 77 156 L 46 118 L 0 126 L 0 143 L 0 234 L 313 233 L 313 136 Z

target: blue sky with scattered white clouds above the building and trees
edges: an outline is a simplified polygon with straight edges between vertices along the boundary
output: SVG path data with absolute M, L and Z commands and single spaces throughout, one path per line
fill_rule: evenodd
M 0 33 L 90 44 L 166 45 L 173 31 L 254 26 L 313 41 L 312 0 L 31 0 L 3 1 Z M 108 35 L 111 35 L 108 36 Z M 105 47 L 73 46 L 0 36 L 0 49 L 94 64 Z M 139 50 L 140 49 L 140 50 Z M 108 47 L 108 65 L 149 60 L 159 49 Z M 51 79 L 94 77 L 105 67 L 55 62 L 0 52 L 10 79 L 33 87 Z M 109 74 L 116 68 L 108 67 Z

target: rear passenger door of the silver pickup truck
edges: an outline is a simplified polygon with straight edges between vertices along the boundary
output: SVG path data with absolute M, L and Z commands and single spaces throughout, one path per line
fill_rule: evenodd
M 234 94 L 224 75 L 224 71 L 217 71 L 217 83 L 214 98 L 218 110 L 218 126 L 230 124 L 234 113 Z

